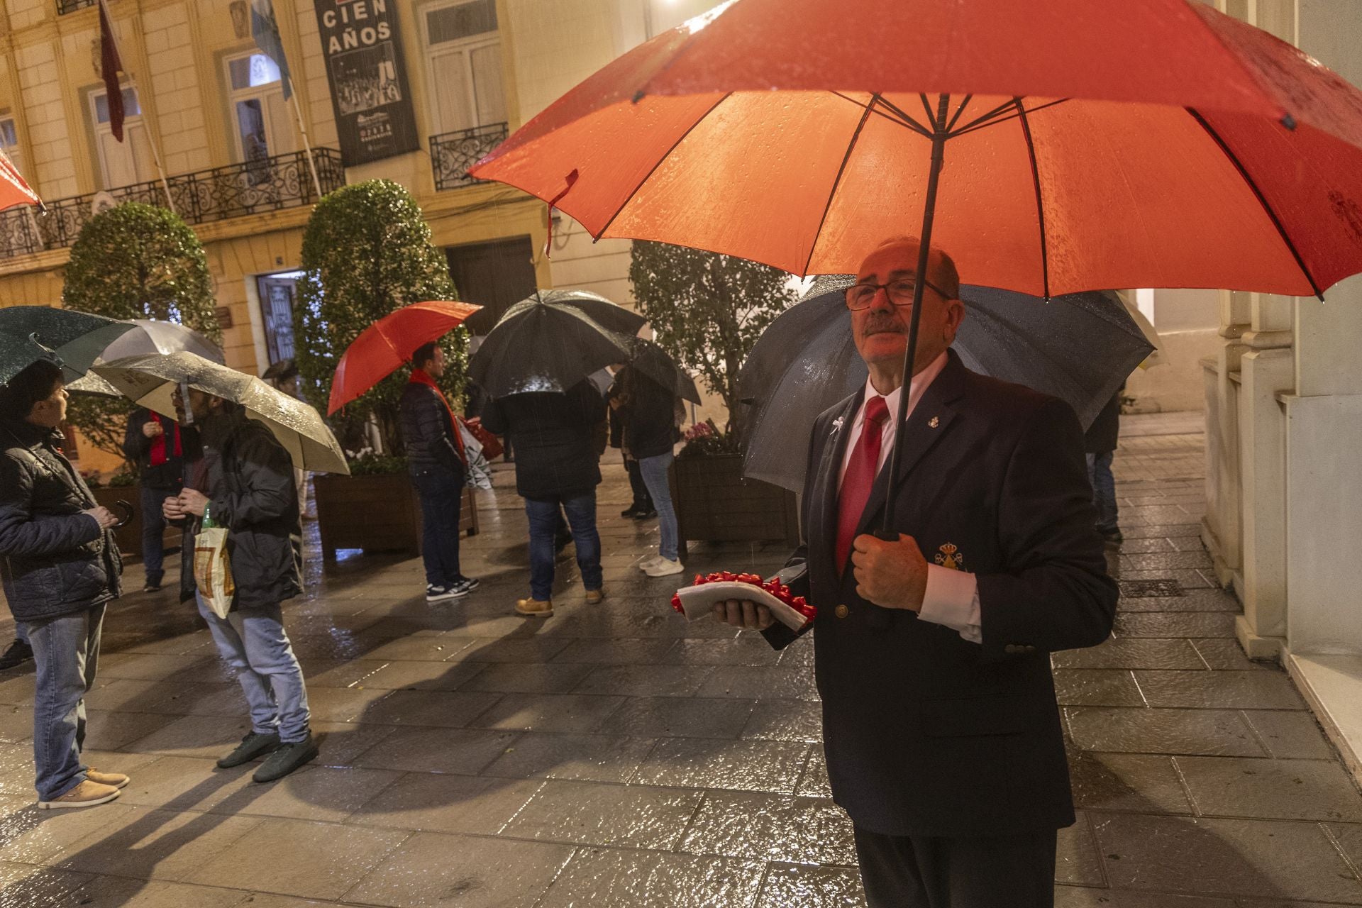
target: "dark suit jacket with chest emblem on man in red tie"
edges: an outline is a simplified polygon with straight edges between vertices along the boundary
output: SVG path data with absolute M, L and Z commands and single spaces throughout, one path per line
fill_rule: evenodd
M 929 562 L 949 554 L 977 576 L 981 645 L 865 602 L 834 564 L 838 471 L 861 398 L 814 423 L 802 502 L 832 796 L 884 834 L 1068 826 L 1050 652 L 1106 640 L 1117 600 L 1079 421 L 1061 400 L 970 372 L 951 353 L 903 429 L 895 528 Z M 883 519 L 888 463 L 861 532 Z M 776 647 L 794 638 L 783 625 L 765 634 Z

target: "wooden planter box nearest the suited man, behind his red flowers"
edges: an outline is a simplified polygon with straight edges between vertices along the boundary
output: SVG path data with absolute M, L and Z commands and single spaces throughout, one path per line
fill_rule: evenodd
M 677 457 L 671 463 L 671 504 L 681 551 L 686 540 L 799 545 L 799 509 L 793 491 L 744 479 L 742 455 Z

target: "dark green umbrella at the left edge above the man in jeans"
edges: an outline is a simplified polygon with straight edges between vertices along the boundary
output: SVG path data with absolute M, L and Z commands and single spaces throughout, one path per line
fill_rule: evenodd
M 104 348 L 133 325 L 54 306 L 0 309 L 0 383 L 38 359 L 60 361 L 67 381 L 82 377 Z

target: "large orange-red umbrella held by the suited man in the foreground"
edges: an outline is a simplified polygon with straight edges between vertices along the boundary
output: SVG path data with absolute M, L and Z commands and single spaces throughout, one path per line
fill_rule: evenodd
M 471 173 L 798 275 L 917 234 L 1031 295 L 1305 295 L 1362 271 L 1359 146 L 1362 93 L 1196 0 L 730 0 Z

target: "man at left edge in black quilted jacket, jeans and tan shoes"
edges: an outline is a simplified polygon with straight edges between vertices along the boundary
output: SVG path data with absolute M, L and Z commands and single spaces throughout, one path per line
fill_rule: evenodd
M 121 592 L 117 520 L 61 453 L 61 368 L 38 361 L 0 385 L 0 580 L 37 663 L 38 807 L 113 800 L 128 777 L 80 761 L 105 606 Z

